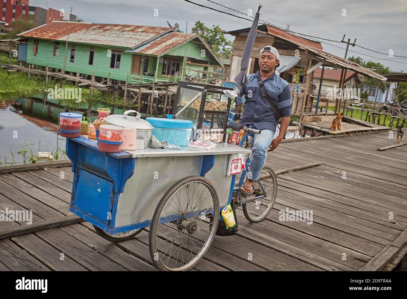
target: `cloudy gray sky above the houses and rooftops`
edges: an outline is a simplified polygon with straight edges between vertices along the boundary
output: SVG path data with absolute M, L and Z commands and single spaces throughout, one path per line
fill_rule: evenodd
M 241 15 L 208 0 L 191 0 L 208 7 Z M 259 0 L 215 0 L 219 4 L 247 13 L 257 11 Z M 263 0 L 260 19 L 286 27 L 291 31 L 340 41 L 344 34 L 356 44 L 382 53 L 407 57 L 407 1 L 406 0 Z M 219 25 L 223 30 L 236 30 L 251 26 L 251 22 L 210 9 L 198 7 L 184 0 L 30 0 L 30 5 L 70 10 L 84 22 L 167 26 L 179 23 L 188 33 L 195 21 L 207 26 Z M 154 16 L 158 9 L 158 16 Z M 346 16 L 344 15 L 346 10 Z M 157 12 L 157 11 L 156 11 Z M 243 16 L 243 15 L 241 15 Z M 243 16 L 244 17 L 244 16 Z M 229 39 L 233 39 L 228 35 Z M 345 48 L 346 44 L 326 41 Z M 343 57 L 345 50 L 322 44 L 324 50 Z M 407 58 L 395 59 L 357 46 L 350 47 L 348 56 L 361 56 L 365 60 L 381 62 L 391 70 L 407 70 Z M 369 57 L 367 55 L 373 56 Z M 379 60 L 381 59 L 381 60 Z M 389 59 L 389 60 L 382 60 Z

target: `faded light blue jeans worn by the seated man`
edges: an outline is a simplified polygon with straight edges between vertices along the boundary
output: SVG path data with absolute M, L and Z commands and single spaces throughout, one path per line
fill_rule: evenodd
M 249 125 L 248 127 L 256 129 L 253 125 Z M 252 145 L 252 159 L 250 160 L 248 178 L 252 181 L 256 181 L 264 166 L 267 157 L 267 149 L 273 140 L 274 132 L 269 129 L 263 129 L 260 134 L 249 133 L 249 135 L 254 137 L 254 142 Z

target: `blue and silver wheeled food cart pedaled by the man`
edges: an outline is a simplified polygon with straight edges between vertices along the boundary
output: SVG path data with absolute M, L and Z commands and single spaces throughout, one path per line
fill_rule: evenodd
M 208 88 L 201 87 L 203 100 Z M 188 92 L 188 86 L 181 88 L 177 111 Z M 210 88 L 212 94 L 222 96 L 215 89 Z M 209 120 L 209 129 L 225 130 L 230 100 L 225 103 L 227 110 L 210 111 L 200 102 L 199 111 L 185 109 L 184 116 L 198 128 Z M 222 118 L 217 121 L 216 116 Z M 183 146 L 103 153 L 87 136 L 68 138 L 66 154 L 74 173 L 70 211 L 110 241 L 132 238 L 146 228 L 154 265 L 160 270 L 188 270 L 209 249 L 223 221 L 221 210 L 236 192 L 236 174 L 228 172 L 231 155 L 248 153 L 247 148 L 224 142 L 212 149 Z

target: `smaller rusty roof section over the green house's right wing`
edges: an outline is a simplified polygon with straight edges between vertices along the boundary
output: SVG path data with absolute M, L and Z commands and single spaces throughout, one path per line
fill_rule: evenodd
M 161 37 L 150 41 L 149 43 L 140 46 L 131 52 L 139 53 L 139 54 L 147 54 L 147 55 L 162 55 L 165 52 L 171 50 L 179 46 L 180 44 L 184 43 L 185 40 L 189 40 L 196 35 L 193 33 L 179 33 L 179 32 L 171 32 Z

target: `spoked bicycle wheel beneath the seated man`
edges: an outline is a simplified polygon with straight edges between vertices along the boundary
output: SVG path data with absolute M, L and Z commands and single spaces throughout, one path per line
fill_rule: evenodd
M 258 181 L 266 193 L 263 192 Z M 271 168 L 263 167 L 258 181 L 254 182 L 253 193 L 255 196 L 265 194 L 265 197 L 243 203 L 243 213 L 250 222 L 259 222 L 266 218 L 271 212 L 277 196 L 277 177 Z

